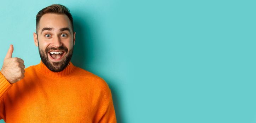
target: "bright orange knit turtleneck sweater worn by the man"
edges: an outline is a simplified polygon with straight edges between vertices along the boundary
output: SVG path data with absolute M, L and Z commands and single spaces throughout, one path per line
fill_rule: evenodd
M 54 73 L 41 61 L 14 84 L 0 72 L 0 118 L 6 123 L 116 123 L 107 83 L 71 62 Z

